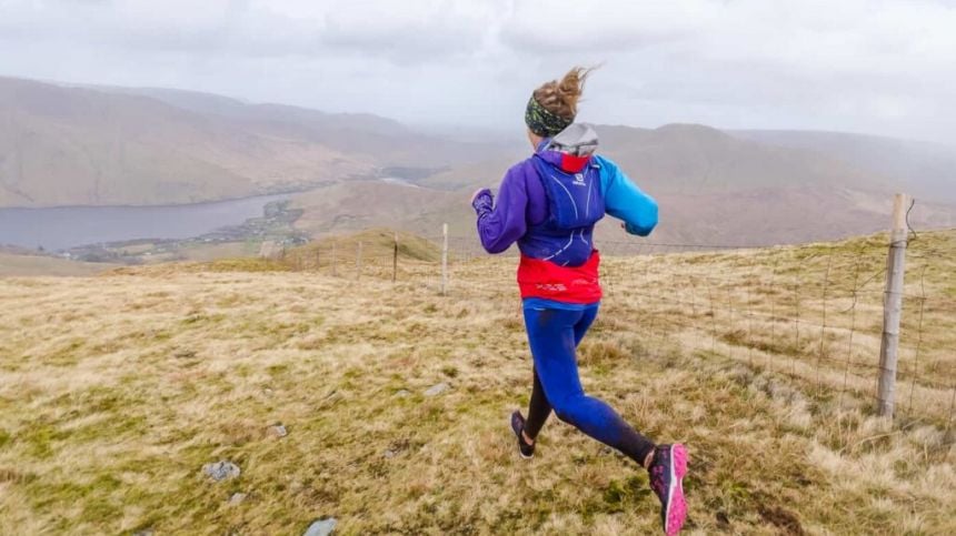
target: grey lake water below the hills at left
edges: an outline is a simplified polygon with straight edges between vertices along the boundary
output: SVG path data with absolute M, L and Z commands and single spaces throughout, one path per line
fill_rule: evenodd
M 165 206 L 0 209 L 0 244 L 48 251 L 136 239 L 188 239 L 262 215 L 290 194 Z

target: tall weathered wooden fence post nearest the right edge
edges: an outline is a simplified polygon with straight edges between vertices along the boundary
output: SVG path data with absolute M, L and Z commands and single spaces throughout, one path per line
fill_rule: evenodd
M 909 198 L 893 198 L 893 231 L 886 257 L 886 290 L 883 294 L 883 338 L 879 344 L 877 413 L 893 418 L 896 361 L 899 355 L 899 321 L 903 315 L 903 279 L 906 273 L 906 210 Z

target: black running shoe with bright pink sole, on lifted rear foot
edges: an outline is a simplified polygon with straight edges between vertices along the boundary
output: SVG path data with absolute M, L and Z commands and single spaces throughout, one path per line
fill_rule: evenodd
M 660 522 L 664 534 L 675 536 L 687 519 L 687 500 L 684 498 L 684 475 L 687 474 L 687 448 L 658 445 L 647 469 L 650 473 L 650 489 L 660 499 Z

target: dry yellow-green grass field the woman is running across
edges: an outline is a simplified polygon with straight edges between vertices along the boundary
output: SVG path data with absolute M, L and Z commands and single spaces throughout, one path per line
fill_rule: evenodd
M 956 533 L 956 233 L 919 241 L 894 426 L 883 239 L 607 256 L 585 387 L 688 445 L 688 534 Z M 447 296 L 420 261 L 396 284 L 267 261 L 0 279 L 0 534 L 656 533 L 643 471 L 571 427 L 517 456 L 514 263 L 455 264 Z M 241 474 L 211 482 L 218 461 Z

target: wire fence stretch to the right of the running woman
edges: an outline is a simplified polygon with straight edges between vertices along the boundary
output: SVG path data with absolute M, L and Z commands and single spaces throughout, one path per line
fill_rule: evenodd
M 664 254 L 605 263 L 608 302 L 647 317 L 649 336 L 799 380 L 816 400 L 875 407 L 883 336 L 885 244 Z M 956 303 L 928 292 L 938 261 L 914 254 L 896 367 L 897 414 L 952 426 Z M 701 267 L 700 264 L 704 264 Z M 938 286 L 938 285 L 937 285 Z M 847 397 L 850 394 L 853 396 Z

